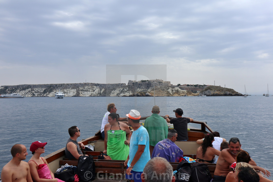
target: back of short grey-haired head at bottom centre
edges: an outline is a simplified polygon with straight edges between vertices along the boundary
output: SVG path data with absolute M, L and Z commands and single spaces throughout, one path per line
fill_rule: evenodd
M 165 158 L 154 157 L 145 165 L 141 180 L 145 182 L 174 182 L 173 167 Z

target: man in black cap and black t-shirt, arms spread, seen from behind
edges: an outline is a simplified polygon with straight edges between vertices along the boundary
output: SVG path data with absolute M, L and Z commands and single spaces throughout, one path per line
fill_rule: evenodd
M 165 115 L 166 121 L 168 123 L 173 124 L 174 129 L 177 131 L 177 141 L 187 141 L 188 138 L 188 123 L 192 122 L 192 118 L 184 118 L 183 110 L 178 108 L 176 110 L 173 110 L 175 112 L 175 117 L 173 119 L 169 119 L 169 115 Z

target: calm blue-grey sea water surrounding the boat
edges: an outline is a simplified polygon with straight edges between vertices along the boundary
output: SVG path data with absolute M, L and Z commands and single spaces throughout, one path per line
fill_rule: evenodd
M 112 102 L 120 117 L 126 117 L 131 109 L 138 110 L 141 116 L 150 116 L 154 105 L 159 106 L 159 115 L 175 117 L 173 110 L 182 108 L 183 117 L 206 121 L 227 141 L 238 137 L 257 165 L 273 172 L 273 96 L 0 99 L 0 168 L 11 160 L 10 149 L 14 144 L 26 146 L 27 162 L 34 141 L 48 142 L 43 156 L 65 147 L 71 126 L 81 130 L 78 140 L 94 136 L 108 103 Z

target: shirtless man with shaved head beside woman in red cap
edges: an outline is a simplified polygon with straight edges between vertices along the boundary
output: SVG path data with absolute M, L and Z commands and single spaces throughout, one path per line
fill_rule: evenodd
M 2 182 L 32 182 L 29 165 L 22 161 L 28 155 L 25 145 L 13 145 L 10 153 L 12 159 L 2 169 Z

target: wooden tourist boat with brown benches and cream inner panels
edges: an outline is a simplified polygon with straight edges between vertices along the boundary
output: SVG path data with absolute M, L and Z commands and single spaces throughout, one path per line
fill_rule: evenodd
M 162 116 L 163 117 L 163 116 Z M 144 120 L 148 117 L 141 117 L 140 120 Z M 165 118 L 165 117 L 163 117 Z M 171 119 L 171 117 L 170 117 Z M 124 120 L 125 121 L 125 120 Z M 191 157 L 196 159 L 196 150 L 200 147 L 200 144 L 197 144 L 198 139 L 203 139 L 204 136 L 213 132 L 213 130 L 203 121 L 193 121 L 190 123 L 192 127 L 189 127 L 188 131 L 188 141 L 176 141 L 175 144 L 183 150 L 183 156 Z M 188 125 L 189 126 L 189 125 Z M 101 137 L 100 130 L 95 133 L 94 136 L 87 138 L 81 141 L 84 145 L 91 144 L 94 147 L 94 151 L 83 151 L 83 154 L 89 154 L 93 156 L 94 163 L 96 166 L 96 179 L 94 181 L 127 181 L 125 179 L 126 166 L 124 166 L 123 160 L 99 160 L 97 156 L 100 154 L 100 151 L 104 150 L 104 141 Z M 49 167 L 52 172 L 55 172 L 58 168 L 66 163 L 69 165 L 78 165 L 78 160 L 76 159 L 66 159 L 65 157 L 65 148 L 62 148 L 54 153 L 51 153 L 45 156 Z M 176 169 L 178 162 L 172 162 L 173 170 Z M 210 170 L 210 173 L 214 174 L 216 164 L 207 164 Z

